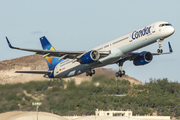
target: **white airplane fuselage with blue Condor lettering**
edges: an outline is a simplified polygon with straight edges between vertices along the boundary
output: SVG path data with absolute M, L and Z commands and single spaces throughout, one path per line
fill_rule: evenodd
M 160 24 L 169 24 L 165 21 L 155 22 L 143 28 L 130 32 L 119 38 L 99 45 L 91 50 L 110 51 L 111 53 L 96 62 L 90 64 L 81 64 L 74 62 L 73 59 L 66 59 L 56 65 L 54 69 L 55 78 L 72 77 L 86 72 L 89 69 L 113 64 L 120 59 L 125 58 L 130 52 L 145 47 L 156 42 L 158 39 L 164 39 L 174 32 L 172 26 L 160 27 Z

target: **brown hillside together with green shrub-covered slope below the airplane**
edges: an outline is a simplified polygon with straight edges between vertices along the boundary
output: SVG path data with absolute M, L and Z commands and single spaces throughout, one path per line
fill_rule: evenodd
M 0 68 L 0 113 L 12 110 L 31 111 L 34 110 L 31 103 L 41 101 L 41 111 L 54 111 L 59 115 L 94 114 L 92 109 L 99 108 L 131 109 L 134 115 L 156 113 L 180 116 L 180 86 L 167 79 L 155 79 L 142 84 L 127 75 L 123 80 L 117 79 L 114 71 L 104 68 L 96 69 L 96 75 L 92 78 L 82 74 L 75 79 L 48 81 L 41 75 L 14 73 L 15 70 L 22 69 L 47 70 L 46 61 L 39 55 L 5 60 L 0 62 Z M 114 94 L 126 96 L 112 96 Z

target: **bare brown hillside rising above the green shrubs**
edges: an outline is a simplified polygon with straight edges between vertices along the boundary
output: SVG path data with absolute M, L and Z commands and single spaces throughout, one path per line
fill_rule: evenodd
M 31 80 L 49 80 L 44 78 L 43 75 L 36 74 L 21 74 L 15 73 L 16 70 L 48 70 L 46 60 L 40 55 L 30 55 L 11 60 L 4 60 L 0 62 L 0 84 L 28 82 Z M 115 77 L 115 71 L 105 68 L 97 68 L 96 75 L 105 75 L 108 77 Z M 91 80 L 91 77 L 82 74 L 77 77 L 73 77 L 76 80 L 76 84 L 80 84 L 84 80 Z M 128 75 L 123 76 L 121 79 L 129 80 L 131 83 L 142 84 L 139 80 L 132 78 Z M 69 80 L 67 78 L 66 80 Z

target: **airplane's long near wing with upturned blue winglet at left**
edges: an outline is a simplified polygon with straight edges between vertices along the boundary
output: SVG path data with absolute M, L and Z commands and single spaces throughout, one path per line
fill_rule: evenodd
M 18 47 L 13 47 L 7 37 L 6 37 L 6 40 L 7 40 L 9 47 L 12 49 L 35 52 L 36 54 L 43 55 L 43 57 L 51 56 L 51 57 L 75 59 L 76 57 L 82 56 L 83 54 L 85 54 L 87 52 L 87 51 L 51 51 L 51 50 L 18 48 Z M 101 57 L 105 57 L 105 56 L 109 55 L 109 51 L 98 51 L 98 52 Z

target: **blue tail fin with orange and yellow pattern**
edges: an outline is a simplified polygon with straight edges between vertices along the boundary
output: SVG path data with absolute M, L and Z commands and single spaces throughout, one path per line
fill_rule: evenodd
M 43 50 L 55 50 L 45 36 L 41 37 L 40 41 Z M 50 70 L 53 70 L 54 67 L 60 62 L 59 58 L 48 57 L 48 56 L 46 56 L 46 61 Z

